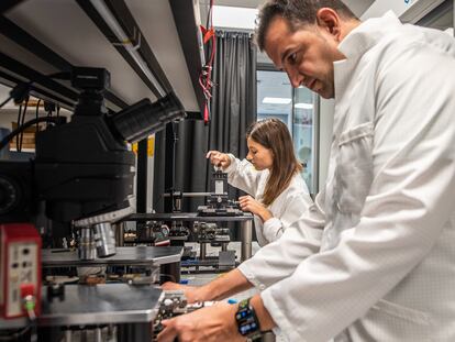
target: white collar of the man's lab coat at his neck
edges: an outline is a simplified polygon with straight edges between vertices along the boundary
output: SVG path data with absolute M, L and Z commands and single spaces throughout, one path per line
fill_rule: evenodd
M 355 27 L 339 45 L 346 59 L 334 62 L 335 100 L 343 97 L 358 59 L 390 30 L 401 22 L 392 11 L 381 18 L 368 19 Z

